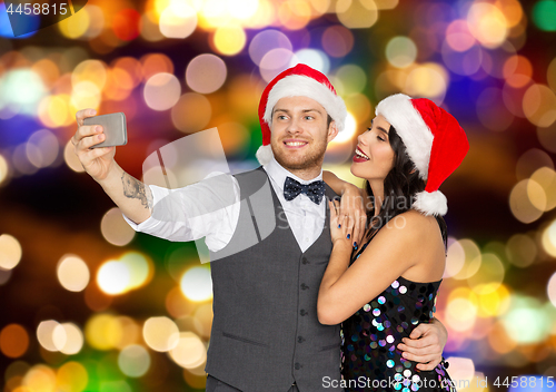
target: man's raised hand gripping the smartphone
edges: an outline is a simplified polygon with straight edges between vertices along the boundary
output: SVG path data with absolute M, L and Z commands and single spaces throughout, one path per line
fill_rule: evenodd
M 116 147 L 93 148 L 107 139 L 105 127 L 101 125 L 86 125 L 87 118 L 96 115 L 95 109 L 82 109 L 76 114 L 78 128 L 71 143 L 76 146 L 76 154 L 81 161 L 85 170 L 97 182 L 106 179 L 110 169 L 116 166 L 113 156 Z

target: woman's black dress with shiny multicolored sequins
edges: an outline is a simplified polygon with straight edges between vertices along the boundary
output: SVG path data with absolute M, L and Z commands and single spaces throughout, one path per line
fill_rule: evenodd
M 419 323 L 433 318 L 440 283 L 418 283 L 400 276 L 344 321 L 340 355 L 346 392 L 456 391 L 443 363 L 433 371 L 417 371 L 416 363 L 404 359 L 396 349 Z

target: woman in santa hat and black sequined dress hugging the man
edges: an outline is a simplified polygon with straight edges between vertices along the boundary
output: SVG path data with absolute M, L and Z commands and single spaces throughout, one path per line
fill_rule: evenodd
M 334 248 L 321 281 L 318 316 L 342 323 L 346 391 L 455 390 L 444 363 L 416 370 L 396 349 L 435 312 L 445 268 L 446 197 L 438 190 L 469 145 L 457 120 L 428 99 L 390 96 L 358 137 L 351 173 L 366 179 L 363 246 L 330 203 Z M 326 174 L 340 193 L 346 184 Z

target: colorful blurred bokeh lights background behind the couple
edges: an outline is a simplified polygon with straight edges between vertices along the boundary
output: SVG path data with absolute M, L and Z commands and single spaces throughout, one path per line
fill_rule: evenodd
M 278 72 L 330 76 L 349 111 L 326 168 L 403 91 L 450 110 L 470 151 L 443 186 L 437 316 L 453 379 L 556 376 L 556 1 L 89 0 L 14 39 L 0 2 L 0 384 L 13 392 L 205 388 L 211 282 L 195 244 L 135 234 L 69 144 L 75 114 L 123 111 L 118 163 L 218 127 L 257 166 Z M 471 385 L 475 385 L 471 383 Z M 506 390 L 500 385 L 500 390 Z M 513 391 L 525 391 L 523 384 Z

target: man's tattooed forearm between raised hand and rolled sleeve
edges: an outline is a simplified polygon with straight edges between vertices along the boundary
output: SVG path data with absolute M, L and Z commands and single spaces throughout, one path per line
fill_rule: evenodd
M 108 176 L 98 183 L 128 218 L 139 224 L 152 212 L 152 194 L 148 186 L 130 176 L 116 163 Z

